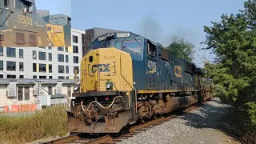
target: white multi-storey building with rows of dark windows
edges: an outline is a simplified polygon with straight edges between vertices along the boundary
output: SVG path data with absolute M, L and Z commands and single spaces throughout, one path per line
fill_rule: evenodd
M 82 59 L 82 30 L 71 29 L 70 47 L 0 47 L 0 110 L 32 104 L 38 95 L 72 97 Z

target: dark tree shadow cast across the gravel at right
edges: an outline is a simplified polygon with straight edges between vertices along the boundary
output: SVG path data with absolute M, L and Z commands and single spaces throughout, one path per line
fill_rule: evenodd
M 237 122 L 234 118 L 234 110 L 231 106 L 222 104 L 219 98 L 214 98 L 200 106 L 198 110 L 195 110 L 196 112 L 193 111 L 183 114 L 181 117 L 186 120 L 187 126 L 193 126 L 197 129 L 219 130 L 234 140 L 242 142 L 241 138 L 238 138 L 238 125 L 236 125 Z

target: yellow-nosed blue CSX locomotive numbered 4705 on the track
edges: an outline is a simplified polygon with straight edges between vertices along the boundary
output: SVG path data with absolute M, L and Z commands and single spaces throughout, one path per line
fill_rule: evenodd
M 118 133 L 213 98 L 213 82 L 200 68 L 129 31 L 96 38 L 78 73 L 67 110 L 73 133 Z

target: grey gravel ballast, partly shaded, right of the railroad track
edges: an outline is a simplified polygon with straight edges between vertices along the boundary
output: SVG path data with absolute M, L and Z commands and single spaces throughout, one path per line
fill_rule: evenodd
M 230 106 L 214 98 L 196 110 L 118 143 L 238 144 L 241 142 L 232 137 L 230 132 L 234 124 L 230 110 Z

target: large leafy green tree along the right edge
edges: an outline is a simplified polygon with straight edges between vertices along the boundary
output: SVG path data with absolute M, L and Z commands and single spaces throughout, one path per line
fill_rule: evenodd
M 256 0 L 244 3 L 238 14 L 222 14 L 221 22 L 204 26 L 206 50 L 216 55 L 205 63 L 207 76 L 214 79 L 214 93 L 238 110 L 242 134 L 251 142 L 256 134 Z

